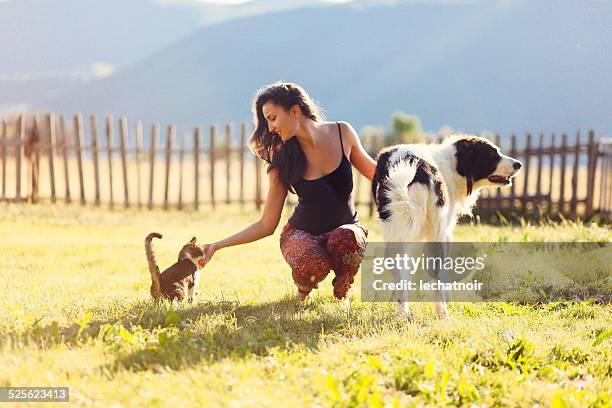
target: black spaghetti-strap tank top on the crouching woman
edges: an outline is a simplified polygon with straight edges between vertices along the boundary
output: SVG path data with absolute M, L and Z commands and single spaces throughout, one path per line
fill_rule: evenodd
M 359 222 L 353 202 L 353 170 L 344 155 L 340 124 L 336 124 L 342 151 L 340 165 L 323 177 L 314 180 L 302 178 L 293 185 L 298 204 L 289 218 L 289 225 L 314 235 Z

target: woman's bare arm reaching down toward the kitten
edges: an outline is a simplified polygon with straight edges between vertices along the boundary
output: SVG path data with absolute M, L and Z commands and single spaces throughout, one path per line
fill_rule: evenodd
M 274 234 L 283 211 L 287 189 L 279 181 L 277 169 L 271 170 L 268 173 L 268 178 L 270 186 L 263 214 L 259 221 L 221 241 L 204 245 L 203 248 L 207 259 L 210 259 L 218 249 L 246 244 Z

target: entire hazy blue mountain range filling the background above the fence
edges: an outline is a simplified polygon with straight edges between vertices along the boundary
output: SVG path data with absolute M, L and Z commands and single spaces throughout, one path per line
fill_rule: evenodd
M 399 110 L 429 130 L 612 131 L 610 2 L 296 2 L 275 11 L 256 0 L 248 12 L 117 0 L 79 9 L 95 2 L 62 0 L 71 16 L 19 17 L 46 28 L 28 55 L 5 65 L 24 36 L 6 29 L 2 8 L 11 3 L 0 2 L 4 106 L 237 122 L 250 120 L 258 87 L 285 79 L 308 89 L 329 119 L 357 128 L 385 125 Z M 69 67 L 72 76 L 23 75 Z

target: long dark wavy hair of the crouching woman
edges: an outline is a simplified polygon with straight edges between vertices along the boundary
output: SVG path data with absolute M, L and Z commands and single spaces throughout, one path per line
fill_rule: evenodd
M 263 106 L 272 102 L 289 111 L 297 105 L 308 119 L 322 120 L 319 107 L 308 93 L 299 85 L 290 82 L 276 82 L 257 91 L 253 99 L 253 117 L 255 132 L 251 137 L 251 150 L 268 163 L 267 172 L 277 168 L 280 182 L 289 191 L 295 193 L 293 184 L 297 183 L 306 172 L 306 156 L 296 137 L 283 142 L 277 134 L 270 133 L 268 122 L 263 114 Z

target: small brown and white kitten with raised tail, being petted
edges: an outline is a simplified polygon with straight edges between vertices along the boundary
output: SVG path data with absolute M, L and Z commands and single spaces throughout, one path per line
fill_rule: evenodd
M 193 237 L 179 252 L 178 261 L 160 273 L 151 241 L 161 237 L 161 234 L 152 232 L 145 238 L 145 252 L 151 272 L 151 296 L 155 301 L 163 298 L 180 302 L 188 297 L 189 302 L 193 302 L 200 281 L 200 269 L 206 264 L 204 251 Z

